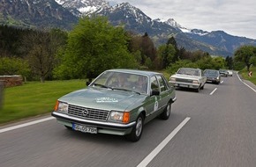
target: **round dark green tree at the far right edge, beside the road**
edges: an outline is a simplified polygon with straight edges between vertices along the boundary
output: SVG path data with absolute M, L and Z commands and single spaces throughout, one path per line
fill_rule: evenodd
M 255 62 L 254 57 L 256 56 L 256 47 L 253 46 L 242 46 L 237 48 L 235 51 L 235 62 L 243 62 L 246 66 L 247 71 Z

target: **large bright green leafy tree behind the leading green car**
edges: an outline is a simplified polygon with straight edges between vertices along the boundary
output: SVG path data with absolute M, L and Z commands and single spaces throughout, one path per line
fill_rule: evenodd
M 110 25 L 107 18 L 80 18 L 54 74 L 63 79 L 94 78 L 106 69 L 134 68 L 137 63 L 127 40 L 124 28 Z

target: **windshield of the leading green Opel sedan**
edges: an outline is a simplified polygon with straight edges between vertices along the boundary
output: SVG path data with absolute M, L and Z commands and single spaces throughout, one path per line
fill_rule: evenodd
M 98 76 L 90 86 L 147 93 L 147 83 L 147 76 L 117 71 L 105 71 L 101 76 Z

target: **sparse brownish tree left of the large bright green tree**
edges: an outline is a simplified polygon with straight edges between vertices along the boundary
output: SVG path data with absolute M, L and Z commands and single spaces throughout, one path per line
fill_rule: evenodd
M 26 60 L 34 75 L 39 76 L 42 83 L 55 67 L 56 53 L 65 42 L 62 35 L 64 33 L 57 30 L 36 31 L 23 38 L 23 49 L 27 53 Z

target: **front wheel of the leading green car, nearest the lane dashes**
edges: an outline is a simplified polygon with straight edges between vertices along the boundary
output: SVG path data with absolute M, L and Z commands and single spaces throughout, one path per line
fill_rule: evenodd
M 132 142 L 139 141 L 139 139 L 141 137 L 141 134 L 142 134 L 142 131 L 143 131 L 143 124 L 144 124 L 144 117 L 140 113 L 137 120 L 136 120 L 135 126 L 132 127 L 131 134 L 126 134 L 125 135 L 126 139 L 128 139 L 129 141 L 132 141 Z

